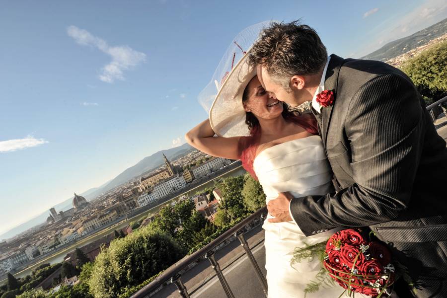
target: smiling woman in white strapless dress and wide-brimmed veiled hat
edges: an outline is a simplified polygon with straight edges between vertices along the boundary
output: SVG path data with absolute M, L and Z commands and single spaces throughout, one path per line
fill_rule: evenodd
M 293 114 L 283 102 L 270 96 L 256 70 L 248 65 L 248 53 L 235 44 L 242 58 L 236 66 L 231 65 L 229 72 L 220 69 L 220 83 L 212 80 L 217 95 L 199 95 L 213 98 L 210 118 L 186 134 L 187 142 L 210 155 L 242 160 L 244 168 L 262 185 L 267 202 L 281 192 L 294 197 L 332 192 L 332 173 L 315 119 L 310 114 Z M 226 56 L 234 62 L 235 55 L 230 51 Z M 306 237 L 296 223 L 271 223 L 271 218 L 268 215 L 263 224 L 268 297 L 302 298 L 321 265 L 315 258 L 291 266 L 294 249 L 326 241 L 335 230 Z M 334 285 L 306 297 L 333 298 L 342 292 Z

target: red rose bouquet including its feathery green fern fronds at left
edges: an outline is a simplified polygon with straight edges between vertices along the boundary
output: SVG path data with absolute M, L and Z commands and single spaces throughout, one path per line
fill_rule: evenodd
M 333 234 L 327 242 L 296 248 L 292 264 L 303 259 L 320 257 L 322 269 L 304 289 L 304 293 L 315 293 L 321 287 L 333 287 L 334 282 L 345 289 L 348 297 L 355 293 L 373 298 L 391 295 L 396 274 L 401 276 L 402 265 L 392 263 L 386 244 L 370 241 L 360 230 L 345 229 Z M 343 293 L 340 297 L 343 296 Z

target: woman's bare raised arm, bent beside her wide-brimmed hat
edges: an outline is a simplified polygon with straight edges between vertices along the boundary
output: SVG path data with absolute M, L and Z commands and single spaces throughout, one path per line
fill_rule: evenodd
M 229 159 L 239 159 L 238 143 L 240 137 L 215 137 L 210 120 L 207 119 L 185 135 L 186 142 L 207 154 Z

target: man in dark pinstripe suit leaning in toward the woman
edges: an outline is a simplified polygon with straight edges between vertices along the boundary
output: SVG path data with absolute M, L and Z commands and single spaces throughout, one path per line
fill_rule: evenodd
M 334 172 L 335 194 L 268 204 L 272 222 L 306 235 L 370 226 L 420 265 L 418 298 L 447 297 L 447 149 L 411 80 L 385 63 L 327 57 L 316 32 L 273 23 L 249 57 L 272 96 L 311 101 Z M 402 298 L 408 297 L 401 295 Z

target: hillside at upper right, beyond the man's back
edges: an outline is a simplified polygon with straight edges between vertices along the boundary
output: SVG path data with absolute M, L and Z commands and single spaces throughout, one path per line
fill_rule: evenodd
M 447 18 L 407 37 L 391 41 L 361 59 L 388 61 L 447 33 Z

